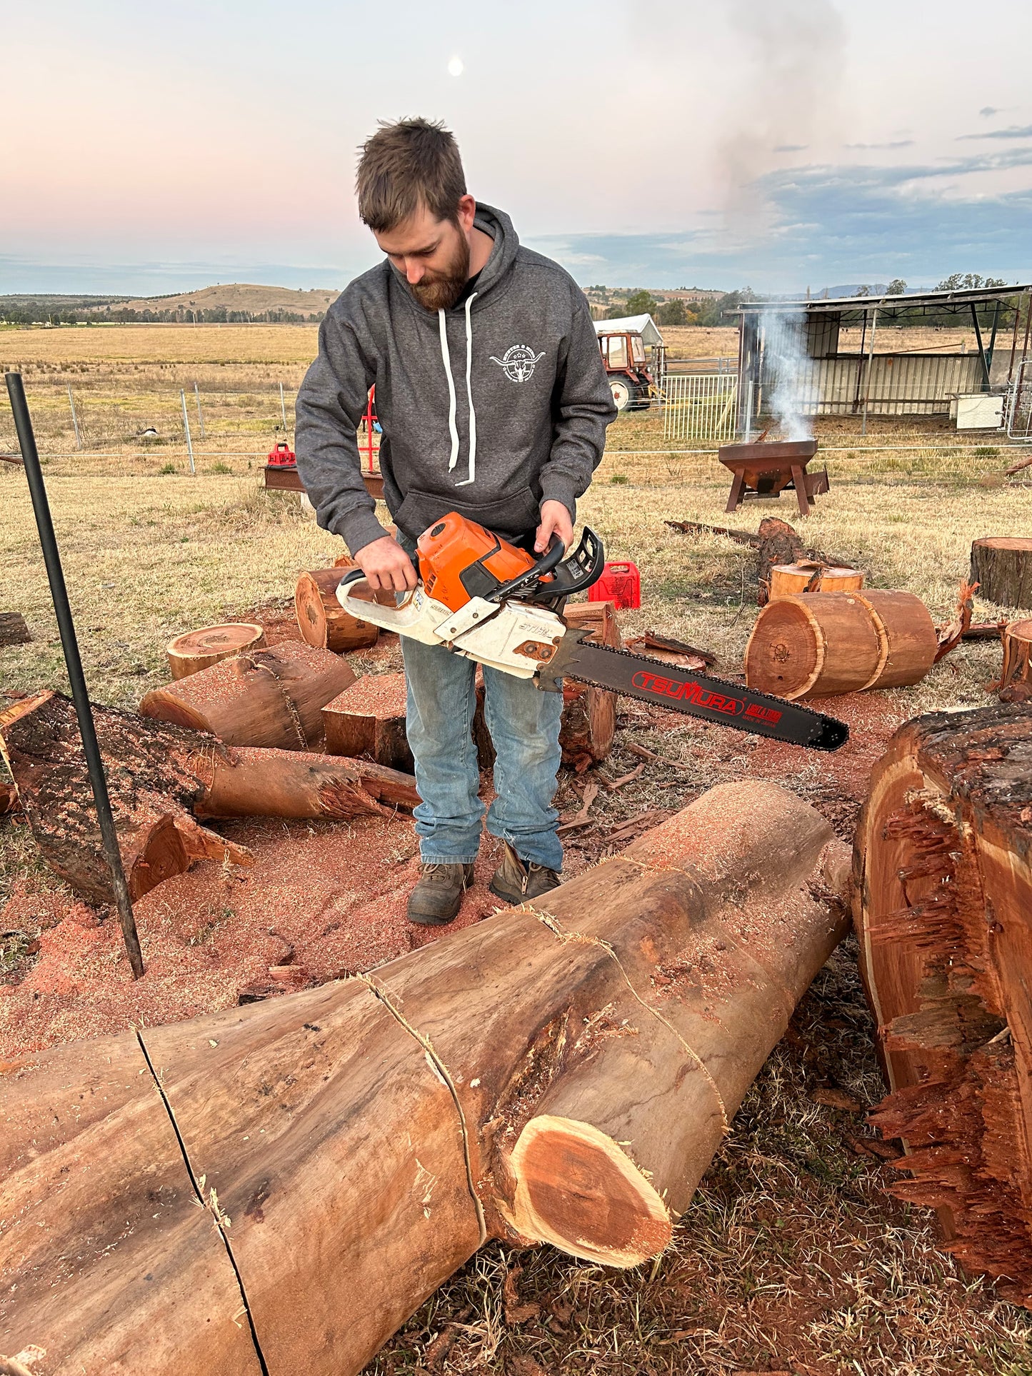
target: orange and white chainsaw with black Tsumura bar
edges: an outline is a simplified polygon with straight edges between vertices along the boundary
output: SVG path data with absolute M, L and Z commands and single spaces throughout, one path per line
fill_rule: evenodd
M 838 750 L 849 738 L 845 722 L 782 698 L 678 671 L 647 655 L 586 644 L 589 629 L 567 626 L 563 607 L 567 597 L 586 590 L 603 574 L 603 545 L 588 527 L 571 555 L 553 537 L 546 553 L 534 559 L 450 512 L 420 535 L 416 548 L 420 582 L 398 605 L 374 601 L 361 568 L 344 575 L 337 601 L 374 626 L 424 645 L 443 645 L 499 673 L 531 678 L 545 692 L 559 692 L 564 678 L 577 678 L 812 750 Z

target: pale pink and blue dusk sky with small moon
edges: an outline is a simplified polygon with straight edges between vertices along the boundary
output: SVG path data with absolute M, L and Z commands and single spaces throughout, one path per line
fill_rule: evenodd
M 378 120 L 582 285 L 1032 279 L 1032 6 L 0 0 L 0 293 L 338 288 Z

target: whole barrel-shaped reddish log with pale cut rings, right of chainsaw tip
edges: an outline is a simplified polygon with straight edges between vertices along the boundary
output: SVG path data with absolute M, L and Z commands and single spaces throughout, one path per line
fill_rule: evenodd
M 912 593 L 806 593 L 779 597 L 757 616 L 746 682 L 790 702 L 919 682 L 938 641 Z

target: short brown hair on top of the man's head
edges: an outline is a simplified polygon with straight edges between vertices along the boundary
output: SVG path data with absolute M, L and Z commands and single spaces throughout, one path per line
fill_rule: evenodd
M 424 205 L 435 219 L 455 224 L 466 179 L 454 133 L 431 120 L 381 122 L 362 146 L 355 193 L 358 213 L 377 234 Z

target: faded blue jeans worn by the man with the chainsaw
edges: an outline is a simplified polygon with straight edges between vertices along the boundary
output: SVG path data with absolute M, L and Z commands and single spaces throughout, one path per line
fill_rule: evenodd
M 416 832 L 422 860 L 471 864 L 480 848 L 484 805 L 472 738 L 476 665 L 443 645 L 402 637 L 409 685 L 407 735 L 422 802 Z M 523 861 L 561 870 L 552 806 L 561 760 L 561 692 L 484 669 L 484 714 L 497 760 L 487 830 Z

